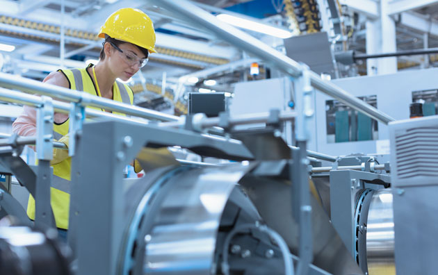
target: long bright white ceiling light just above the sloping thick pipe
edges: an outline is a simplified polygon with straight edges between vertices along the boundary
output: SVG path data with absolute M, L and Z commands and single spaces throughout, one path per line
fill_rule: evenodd
M 246 28 L 251 31 L 257 31 L 259 33 L 265 33 L 267 35 L 272 35 L 277 38 L 291 38 L 293 35 L 290 31 L 286 31 L 283 28 L 276 28 L 274 26 L 268 26 L 266 24 L 261 24 L 248 19 L 243 19 L 241 17 L 236 17 L 233 15 L 220 14 L 216 15 L 220 21 L 228 23 L 233 26 L 238 26 L 239 28 Z

